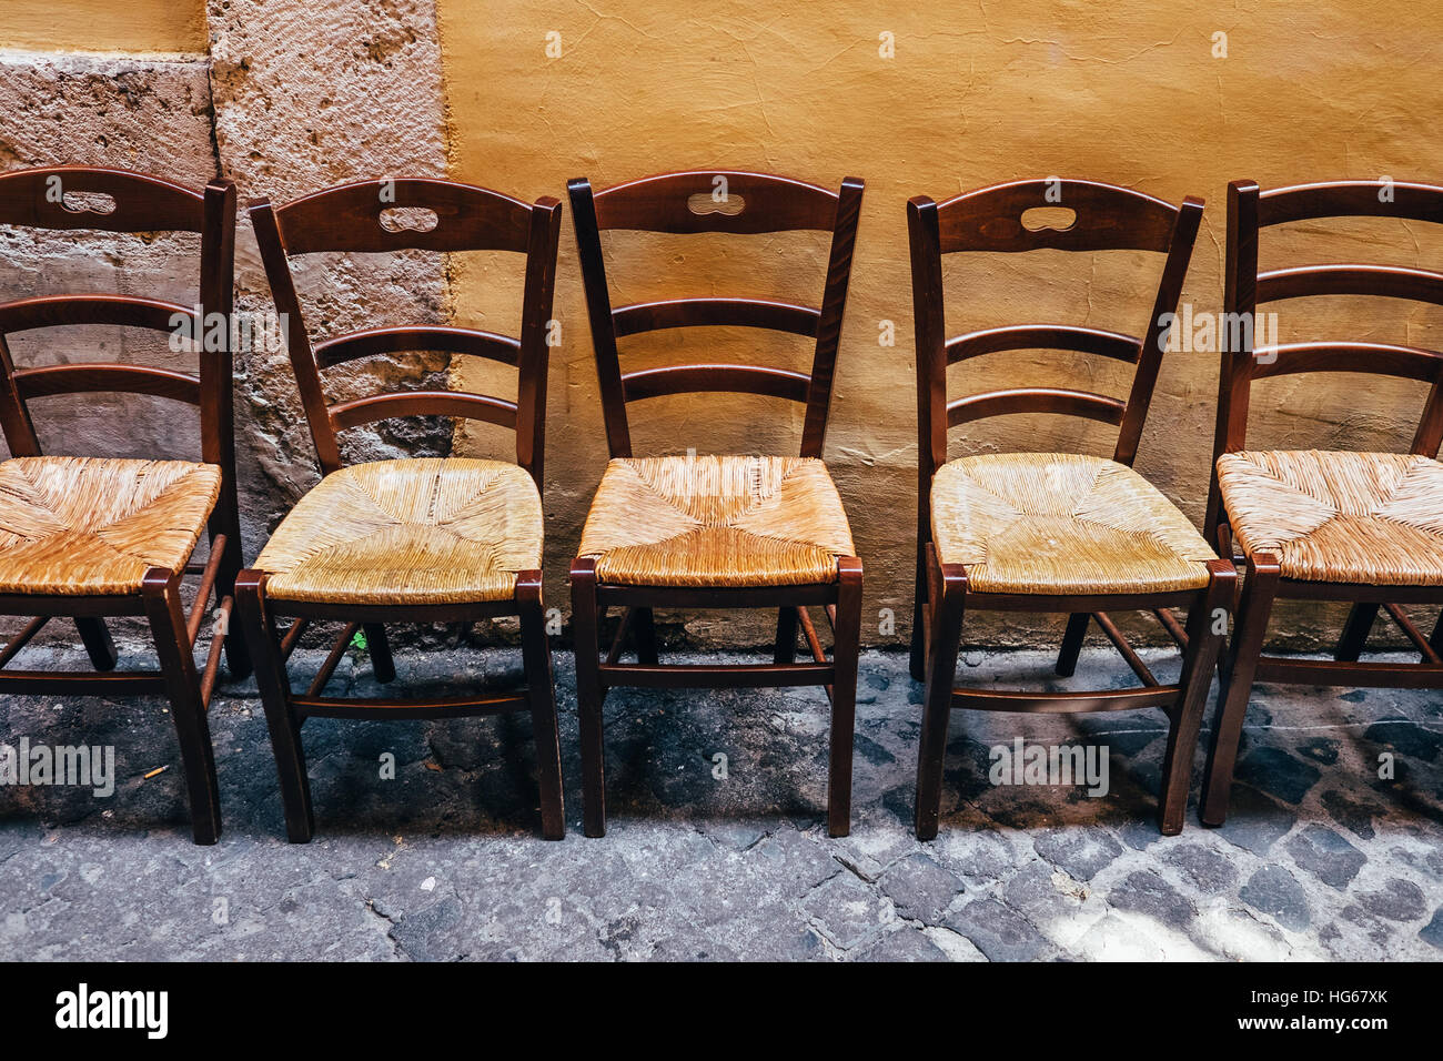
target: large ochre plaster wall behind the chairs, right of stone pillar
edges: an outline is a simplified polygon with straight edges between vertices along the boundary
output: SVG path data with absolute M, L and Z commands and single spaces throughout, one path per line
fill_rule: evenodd
M 1443 140 L 1431 118 L 1443 101 L 1437 3 L 739 0 L 709 7 L 524 0 L 502 12 L 475 0 L 439 0 L 439 7 L 452 172 L 460 179 L 564 198 L 570 176 L 602 186 L 683 167 L 758 167 L 831 186 L 848 173 L 866 178 L 827 458 L 867 564 L 867 605 L 873 614 L 895 611 L 898 637 L 906 635 L 911 615 L 915 534 L 909 196 L 941 199 L 1048 175 L 1113 180 L 1175 202 L 1202 195 L 1209 209 L 1185 299 L 1216 310 L 1229 179 L 1268 186 L 1443 175 Z M 1227 35 L 1225 58 L 1215 56 L 1219 32 Z M 892 58 L 882 55 L 885 33 L 895 42 Z M 557 284 L 564 342 L 553 372 L 547 455 L 553 572 L 564 570 L 605 465 L 574 241 L 566 228 Z M 1345 234 L 1341 253 L 1439 267 L 1443 243 L 1424 228 L 1378 222 Z M 1375 247 L 1378 238 L 1390 245 Z M 784 253 L 789 245 L 760 237 L 684 243 L 622 235 L 612 243 L 609 267 L 625 300 L 772 293 L 815 302 L 817 245 Z M 1315 251 L 1312 260 L 1322 256 Z M 1130 270 L 1141 261 L 1120 253 L 1081 260 L 1038 253 L 952 263 L 948 323 L 961 332 L 1052 318 L 1137 332 L 1147 313 L 1146 283 L 1134 286 Z M 492 270 L 459 268 L 457 316 L 478 319 L 511 306 L 517 283 Z M 1443 318 L 1431 307 L 1400 313 L 1398 305 L 1380 300 L 1354 303 L 1342 316 L 1309 303 L 1283 309 L 1289 339 L 1310 332 L 1326 338 L 1335 323 L 1397 342 L 1437 345 L 1443 338 Z M 883 320 L 896 326 L 895 346 L 879 345 Z M 701 351 L 719 359 L 805 362 L 799 345 L 765 336 L 765 345 L 714 331 L 642 339 L 631 346 L 638 365 Z M 954 370 L 954 393 L 1056 381 L 1059 367 L 1081 374 L 1074 380 L 1124 393 L 1126 377 L 1114 367 L 1068 355 L 994 355 L 990 364 Z M 455 371 L 459 383 L 470 380 L 463 367 Z M 1215 355 L 1170 357 L 1139 460 L 1199 521 L 1215 387 Z M 1345 377 L 1299 377 L 1260 391 L 1254 437 L 1271 446 L 1405 447 L 1421 397 L 1407 384 L 1359 388 Z M 720 420 L 709 419 L 709 409 Z M 798 426 L 784 403 L 716 396 L 645 403 L 633 416 L 649 424 L 639 445 L 655 452 L 688 445 L 755 452 L 784 439 L 791 446 L 795 433 L 759 432 L 759 417 Z M 1010 417 L 957 430 L 952 442 L 954 455 L 1071 446 L 1104 452 L 1111 436 L 1058 417 Z M 463 436 L 459 445 L 473 443 Z M 561 583 L 548 589 L 557 599 Z M 1294 621 L 1313 629 L 1316 618 L 1309 612 Z M 1033 629 L 1012 622 L 999 637 L 1027 639 Z

